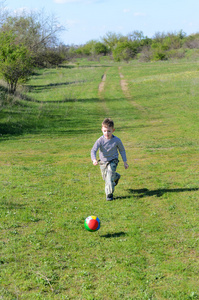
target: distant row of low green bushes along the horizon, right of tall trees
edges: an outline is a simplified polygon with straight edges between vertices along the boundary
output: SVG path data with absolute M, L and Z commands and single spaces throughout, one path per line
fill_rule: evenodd
M 72 56 L 99 57 L 109 55 L 114 61 L 138 59 L 142 62 L 183 58 L 189 49 L 199 48 L 199 33 L 187 35 L 180 32 L 157 32 L 152 38 L 142 31 L 133 31 L 126 36 L 108 32 L 100 41 L 89 41 L 79 47 L 71 47 Z

